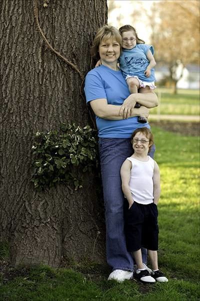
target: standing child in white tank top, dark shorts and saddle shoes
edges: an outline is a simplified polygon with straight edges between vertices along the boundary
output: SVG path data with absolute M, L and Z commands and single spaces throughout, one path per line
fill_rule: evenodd
M 142 282 L 166 282 L 158 269 L 157 203 L 160 196 L 160 175 L 157 163 L 147 154 L 153 136 L 146 127 L 137 128 L 131 135 L 134 154 L 121 166 L 121 185 L 129 209 L 125 214 L 127 250 L 132 252 L 137 269 L 135 276 Z M 150 274 L 143 266 L 141 247 L 148 250 L 152 265 Z

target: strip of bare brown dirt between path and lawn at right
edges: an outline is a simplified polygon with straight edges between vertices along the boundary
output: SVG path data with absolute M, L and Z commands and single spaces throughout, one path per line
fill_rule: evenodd
M 180 121 L 150 121 L 151 126 L 157 126 L 164 130 L 180 133 L 185 136 L 199 136 L 199 122 L 180 122 Z

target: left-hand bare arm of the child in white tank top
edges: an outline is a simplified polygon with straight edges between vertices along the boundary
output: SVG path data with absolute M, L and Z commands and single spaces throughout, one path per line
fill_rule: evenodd
M 129 208 L 131 207 L 133 203 L 132 194 L 129 188 L 129 181 L 130 181 L 130 170 L 131 170 L 132 164 L 130 161 L 125 160 L 123 164 L 121 165 L 120 175 L 121 175 L 121 189 L 126 197 Z

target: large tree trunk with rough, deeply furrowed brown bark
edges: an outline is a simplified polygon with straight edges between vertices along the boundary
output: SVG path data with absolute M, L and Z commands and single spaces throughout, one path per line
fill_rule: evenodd
M 79 89 L 92 38 L 107 21 L 106 1 L 1 1 L 1 240 L 9 241 L 15 265 L 58 266 L 62 256 L 103 262 L 103 204 L 94 175 L 76 192 L 61 184 L 37 192 L 30 179 L 34 132 L 89 122 Z M 46 45 L 36 8 L 46 39 L 79 73 Z

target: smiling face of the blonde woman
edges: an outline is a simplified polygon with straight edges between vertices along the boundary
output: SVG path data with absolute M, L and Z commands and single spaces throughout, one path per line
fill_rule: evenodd
M 114 65 L 120 55 L 120 45 L 114 38 L 101 40 L 98 52 L 103 65 Z

